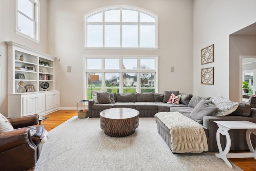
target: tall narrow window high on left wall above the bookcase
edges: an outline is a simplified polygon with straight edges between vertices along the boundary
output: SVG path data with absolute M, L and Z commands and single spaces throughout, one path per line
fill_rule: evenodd
M 39 0 L 16 0 L 16 34 L 39 41 Z

